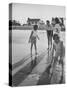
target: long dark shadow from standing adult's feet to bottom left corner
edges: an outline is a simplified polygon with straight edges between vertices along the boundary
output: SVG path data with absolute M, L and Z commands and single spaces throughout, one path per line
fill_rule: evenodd
M 33 60 L 31 59 L 31 62 L 29 62 L 25 67 L 21 68 L 18 72 L 16 72 L 12 76 L 12 86 L 19 86 L 20 83 L 23 82 L 32 72 L 33 68 L 40 63 L 44 56 L 45 52 L 43 52 L 37 57 L 34 57 Z

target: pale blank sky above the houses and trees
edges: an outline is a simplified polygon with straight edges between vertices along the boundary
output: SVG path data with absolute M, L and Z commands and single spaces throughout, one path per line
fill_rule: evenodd
M 21 24 L 26 23 L 27 18 L 40 18 L 44 22 L 51 20 L 52 17 L 64 17 L 65 7 L 54 5 L 38 4 L 12 4 L 12 19 L 19 21 Z

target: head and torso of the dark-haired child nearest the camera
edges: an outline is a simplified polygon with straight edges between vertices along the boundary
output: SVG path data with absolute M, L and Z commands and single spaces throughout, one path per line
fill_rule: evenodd
M 54 34 L 53 35 L 53 53 L 55 52 L 54 57 L 58 58 L 60 57 L 60 59 L 63 58 L 63 42 L 60 40 L 60 37 L 58 36 L 58 34 Z

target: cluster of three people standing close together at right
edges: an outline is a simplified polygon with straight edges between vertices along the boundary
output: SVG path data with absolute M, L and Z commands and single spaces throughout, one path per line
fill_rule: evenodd
M 63 28 L 62 28 L 63 26 Z M 52 76 L 51 83 L 64 82 L 64 45 L 61 41 L 61 31 L 65 29 L 58 18 L 46 21 L 46 31 L 48 38 L 48 50 L 52 48 L 52 60 L 50 63 L 50 77 Z M 53 44 L 52 44 L 53 41 Z M 49 53 L 48 53 L 49 54 Z

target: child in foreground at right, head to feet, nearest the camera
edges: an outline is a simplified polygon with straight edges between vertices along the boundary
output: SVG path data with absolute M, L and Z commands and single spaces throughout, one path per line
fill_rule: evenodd
M 53 40 L 54 43 L 52 57 L 54 56 L 54 58 L 51 63 L 51 73 L 53 73 L 51 83 L 59 83 L 58 80 L 60 81 L 61 74 L 63 76 L 63 42 L 60 41 L 58 34 L 54 34 Z M 58 70 L 57 66 L 59 67 Z M 58 74 L 58 71 L 60 72 L 60 74 Z

